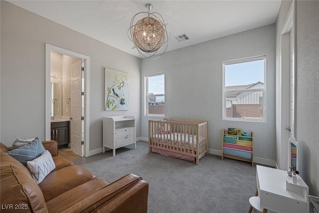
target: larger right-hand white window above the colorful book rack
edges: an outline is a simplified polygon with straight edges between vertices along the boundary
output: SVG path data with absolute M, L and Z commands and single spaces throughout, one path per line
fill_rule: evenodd
M 223 62 L 223 119 L 266 121 L 266 56 Z

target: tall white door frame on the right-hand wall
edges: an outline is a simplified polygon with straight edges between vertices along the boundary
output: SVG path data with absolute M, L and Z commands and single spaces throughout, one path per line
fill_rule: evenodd
M 290 32 L 293 33 L 294 42 L 294 79 L 296 79 L 296 1 L 293 0 L 287 17 L 285 19 L 282 31 L 281 31 L 281 126 L 280 126 L 280 164 L 279 169 L 287 170 L 289 168 L 288 155 L 289 155 L 289 143 L 288 139 L 290 134 L 295 136 L 296 128 L 294 132 L 290 133 L 286 128 L 290 127 Z M 294 90 L 296 89 L 296 80 L 294 82 Z M 295 92 L 294 92 L 295 94 Z M 296 108 L 296 97 L 294 97 L 294 111 Z M 296 124 L 296 111 L 293 118 Z M 296 127 L 296 125 L 294 125 Z M 296 136 L 295 136 L 296 137 Z

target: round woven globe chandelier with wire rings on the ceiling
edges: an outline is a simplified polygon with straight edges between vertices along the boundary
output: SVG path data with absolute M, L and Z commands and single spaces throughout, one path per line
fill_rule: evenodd
M 134 43 L 132 49 L 137 48 L 139 54 L 143 58 L 159 58 L 166 49 L 169 38 L 169 31 L 163 17 L 158 12 L 152 12 L 153 5 L 147 3 L 146 8 L 148 12 L 136 13 L 130 23 L 128 36 Z M 134 24 L 137 16 L 146 15 Z M 129 33 L 130 32 L 130 33 Z

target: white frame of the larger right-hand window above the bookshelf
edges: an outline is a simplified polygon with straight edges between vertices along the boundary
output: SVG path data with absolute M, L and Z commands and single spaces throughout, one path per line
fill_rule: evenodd
M 248 118 L 233 118 L 233 117 L 226 117 L 226 90 L 225 90 L 225 66 L 226 65 L 230 65 L 230 64 L 238 64 L 238 63 L 244 63 L 244 62 L 251 62 L 251 61 L 257 61 L 257 60 L 264 60 L 264 88 L 260 88 L 260 89 L 245 89 L 245 90 L 236 90 L 237 93 L 239 92 L 258 92 L 258 91 L 262 91 L 263 92 L 263 101 L 262 101 L 262 106 L 263 106 L 263 119 L 248 119 Z M 267 69 L 266 69 L 266 64 L 267 64 L 267 57 L 266 55 L 260 55 L 260 56 L 253 56 L 253 57 L 247 57 L 247 58 L 241 58 L 241 59 L 235 59 L 235 60 L 229 60 L 229 61 L 223 61 L 222 62 L 222 71 L 223 71 L 223 85 L 222 85 L 222 93 L 223 93 L 223 97 L 222 97 L 222 113 L 223 113 L 223 120 L 225 121 L 246 121 L 246 122 L 262 122 L 265 123 L 266 122 L 266 73 L 267 73 Z M 230 92 L 230 91 L 227 91 Z M 235 90 L 234 90 L 235 92 Z

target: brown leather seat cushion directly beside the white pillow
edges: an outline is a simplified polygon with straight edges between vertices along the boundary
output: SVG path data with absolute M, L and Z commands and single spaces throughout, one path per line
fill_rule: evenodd
M 45 202 L 96 179 L 96 176 L 83 167 L 73 165 L 51 172 L 38 185 L 43 193 Z

